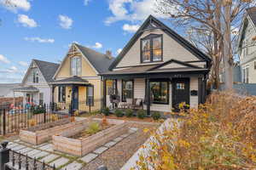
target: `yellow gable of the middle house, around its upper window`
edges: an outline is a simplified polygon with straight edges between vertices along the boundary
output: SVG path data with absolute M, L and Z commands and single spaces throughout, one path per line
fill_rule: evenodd
M 73 45 L 65 59 L 61 62 L 61 66 L 58 71 L 55 73 L 55 79 L 62 79 L 67 77 L 73 77 L 71 75 L 71 59 L 73 57 L 79 57 L 81 59 L 81 76 L 80 77 L 96 77 L 97 73 L 95 69 L 90 65 L 89 61 L 86 60 L 83 54 L 79 51 L 78 48 Z

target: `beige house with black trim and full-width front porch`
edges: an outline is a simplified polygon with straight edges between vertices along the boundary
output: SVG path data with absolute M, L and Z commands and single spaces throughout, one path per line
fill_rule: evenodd
M 115 95 L 119 106 L 141 104 L 148 114 L 170 112 L 182 102 L 197 107 L 206 99 L 210 67 L 206 54 L 150 15 L 100 74 L 104 105 L 111 107 Z

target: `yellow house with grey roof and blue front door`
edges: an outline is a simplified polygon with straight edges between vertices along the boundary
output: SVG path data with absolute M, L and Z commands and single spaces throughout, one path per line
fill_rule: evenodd
M 78 111 L 100 110 L 103 83 L 98 74 L 108 71 L 112 62 L 109 51 L 101 54 L 73 43 L 51 82 L 52 101 Z

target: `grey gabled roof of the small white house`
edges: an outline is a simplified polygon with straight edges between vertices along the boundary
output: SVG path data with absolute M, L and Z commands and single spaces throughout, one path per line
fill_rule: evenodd
M 32 64 L 35 63 L 35 65 L 38 66 L 39 71 L 42 73 L 44 80 L 46 82 L 53 82 L 53 77 L 55 75 L 55 71 L 57 71 L 59 64 L 56 63 L 51 63 L 48 61 L 42 61 L 42 60 L 38 60 L 38 59 L 32 59 L 32 63 L 29 66 L 28 70 L 26 71 L 26 75 L 22 80 L 22 84 L 24 83 L 28 72 L 30 71 L 30 68 L 32 67 Z

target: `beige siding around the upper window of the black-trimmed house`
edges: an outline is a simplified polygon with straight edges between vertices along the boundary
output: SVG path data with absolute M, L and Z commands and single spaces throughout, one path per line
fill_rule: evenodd
M 123 59 L 120 60 L 116 68 L 131 66 L 131 65 L 150 65 L 141 63 L 141 38 L 148 36 L 148 34 L 162 34 L 163 35 L 163 62 L 170 59 L 177 59 L 181 61 L 197 61 L 199 60 L 194 54 L 191 54 L 189 50 L 183 48 L 178 42 L 176 42 L 172 37 L 168 36 L 164 31 L 154 30 L 145 31 L 141 37 L 137 39 L 130 50 L 125 54 Z M 159 62 L 158 62 L 159 63 Z M 151 63 L 155 64 L 155 63 Z M 193 63 L 193 65 L 202 65 L 202 63 Z

